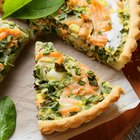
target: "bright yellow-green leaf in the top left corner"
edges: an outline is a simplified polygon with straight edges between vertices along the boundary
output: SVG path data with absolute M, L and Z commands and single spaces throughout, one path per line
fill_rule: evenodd
M 8 17 L 31 1 L 32 0 L 5 0 L 3 5 L 4 16 L 2 18 Z

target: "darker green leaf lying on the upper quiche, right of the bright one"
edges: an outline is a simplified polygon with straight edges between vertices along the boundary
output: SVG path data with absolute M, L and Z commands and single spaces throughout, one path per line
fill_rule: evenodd
M 19 19 L 46 17 L 57 11 L 64 2 L 65 0 L 32 0 L 32 2 L 16 11 L 12 17 Z

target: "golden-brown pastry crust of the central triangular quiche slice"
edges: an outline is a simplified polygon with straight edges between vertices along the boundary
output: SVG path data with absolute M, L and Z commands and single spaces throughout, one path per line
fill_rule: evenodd
M 94 105 L 88 110 L 79 112 L 75 116 L 62 118 L 61 120 L 39 120 L 39 129 L 43 134 L 50 134 L 54 131 L 65 131 L 68 128 L 76 128 L 82 123 L 89 122 L 93 120 L 96 116 L 105 112 L 111 104 L 113 104 L 119 99 L 121 94 L 123 94 L 123 90 L 120 87 L 116 86 L 102 102 Z

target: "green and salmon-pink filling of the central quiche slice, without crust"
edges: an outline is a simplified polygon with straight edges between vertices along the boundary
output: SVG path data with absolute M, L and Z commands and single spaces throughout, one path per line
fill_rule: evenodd
M 34 70 L 39 121 L 70 118 L 104 101 L 113 87 L 52 43 L 37 42 Z M 120 94 L 122 90 L 119 89 Z M 116 99 L 115 99 L 116 100 Z M 53 130 L 54 131 L 54 130 Z

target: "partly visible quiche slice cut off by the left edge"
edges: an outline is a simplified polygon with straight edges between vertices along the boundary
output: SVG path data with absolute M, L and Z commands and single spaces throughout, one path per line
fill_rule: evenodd
M 0 19 L 0 82 L 25 46 L 29 35 L 12 21 Z

